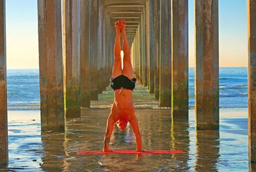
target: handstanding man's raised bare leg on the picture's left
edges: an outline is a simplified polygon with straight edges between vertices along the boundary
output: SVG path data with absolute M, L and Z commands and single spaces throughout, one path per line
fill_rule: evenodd
M 114 45 L 114 65 L 112 70 L 112 77 L 115 78 L 118 75 L 122 75 L 122 58 L 121 58 L 121 45 L 120 45 L 120 22 L 115 22 L 116 27 L 116 40 Z

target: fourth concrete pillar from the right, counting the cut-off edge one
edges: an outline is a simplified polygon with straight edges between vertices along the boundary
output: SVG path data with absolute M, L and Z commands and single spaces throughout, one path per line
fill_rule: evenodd
M 159 103 L 161 107 L 172 106 L 172 14 L 171 1 L 161 0 L 161 47 L 159 69 Z

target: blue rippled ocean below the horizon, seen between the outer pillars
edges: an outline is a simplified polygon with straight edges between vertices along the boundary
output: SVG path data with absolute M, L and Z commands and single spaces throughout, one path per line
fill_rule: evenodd
M 195 106 L 195 68 L 189 68 L 189 107 Z M 40 109 L 39 70 L 7 70 L 9 110 Z M 220 107 L 248 107 L 247 68 L 220 68 Z

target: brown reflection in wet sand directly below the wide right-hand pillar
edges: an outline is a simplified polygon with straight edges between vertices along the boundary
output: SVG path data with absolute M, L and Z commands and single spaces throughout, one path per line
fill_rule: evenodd
M 196 171 L 218 171 L 219 130 L 196 130 Z

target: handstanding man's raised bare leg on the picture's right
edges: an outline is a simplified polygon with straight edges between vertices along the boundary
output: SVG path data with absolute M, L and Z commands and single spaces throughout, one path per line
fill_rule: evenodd
M 126 32 L 125 32 L 125 21 L 121 20 L 121 32 L 123 35 L 123 51 L 124 51 L 124 70 L 123 75 L 127 76 L 129 79 L 133 78 L 133 70 L 130 56 L 130 47 L 127 40 Z

